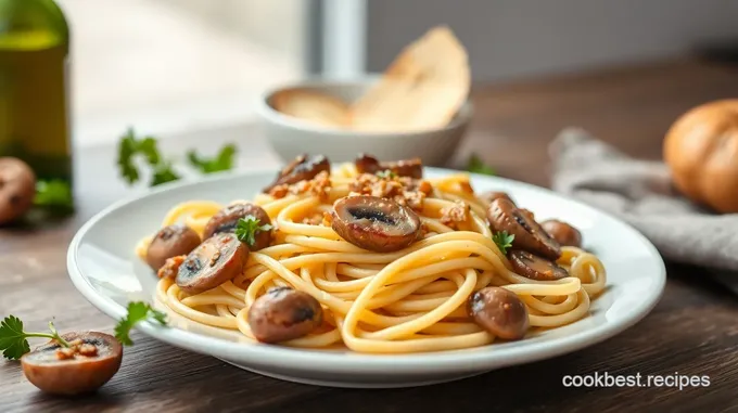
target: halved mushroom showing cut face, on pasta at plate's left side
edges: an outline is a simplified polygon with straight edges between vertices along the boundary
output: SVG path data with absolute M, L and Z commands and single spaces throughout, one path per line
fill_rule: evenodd
M 249 248 L 234 234 L 215 234 L 187 256 L 175 282 L 184 293 L 203 293 L 240 274 L 247 259 Z

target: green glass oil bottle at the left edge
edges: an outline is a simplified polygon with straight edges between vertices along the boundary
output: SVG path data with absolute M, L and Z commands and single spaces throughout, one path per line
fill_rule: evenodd
M 71 185 L 68 50 L 53 0 L 0 0 L 0 156 Z

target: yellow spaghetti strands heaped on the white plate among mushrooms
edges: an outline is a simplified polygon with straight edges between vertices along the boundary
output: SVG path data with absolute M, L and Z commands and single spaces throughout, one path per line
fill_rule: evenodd
M 423 227 L 420 240 L 396 251 L 360 248 L 325 222 L 333 203 L 349 195 L 360 176 L 354 165 L 345 164 L 330 173 L 325 193 L 256 195 L 251 203 L 260 206 L 275 227 L 271 244 L 252 250 L 232 280 L 202 293 L 187 294 L 171 276 L 162 278 L 156 299 L 194 322 L 254 338 L 250 308 L 270 288 L 289 286 L 317 299 L 322 323 L 282 345 L 408 353 L 493 343 L 495 336 L 467 311 L 469 297 L 487 286 L 514 293 L 525 305 L 531 327 L 557 327 L 586 317 L 590 300 L 605 288 L 602 263 L 577 247 L 561 247 L 557 260 L 569 276 L 537 281 L 513 272 L 493 241 L 487 205 L 461 173 L 424 180 L 431 191 L 416 209 Z M 182 203 L 162 225 L 181 222 L 202 236 L 222 207 L 209 201 Z M 455 207 L 462 219 L 448 219 Z M 137 245 L 141 259 L 150 243 L 148 237 Z

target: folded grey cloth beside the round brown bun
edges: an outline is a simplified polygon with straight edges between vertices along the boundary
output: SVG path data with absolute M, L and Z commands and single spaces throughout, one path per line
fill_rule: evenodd
M 633 159 L 573 128 L 549 151 L 555 191 L 631 223 L 667 260 L 738 270 L 738 214 L 716 215 L 679 195 L 663 163 Z

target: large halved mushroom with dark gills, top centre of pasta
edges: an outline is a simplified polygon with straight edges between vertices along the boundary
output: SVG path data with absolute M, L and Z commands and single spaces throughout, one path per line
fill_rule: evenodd
M 333 204 L 331 227 L 342 238 L 359 248 L 391 253 L 400 250 L 420 235 L 420 218 L 392 199 L 348 196 Z

